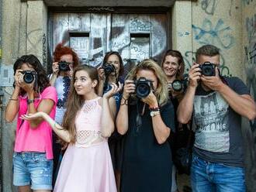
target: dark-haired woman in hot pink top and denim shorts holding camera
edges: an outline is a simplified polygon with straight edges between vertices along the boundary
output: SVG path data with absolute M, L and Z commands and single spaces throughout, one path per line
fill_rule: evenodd
M 15 87 L 5 110 L 5 120 L 16 115 L 17 129 L 13 153 L 13 184 L 21 192 L 52 190 L 52 132 L 43 118 L 24 121 L 20 117 L 42 111 L 54 118 L 57 92 L 47 73 L 33 55 L 20 57 L 13 66 Z

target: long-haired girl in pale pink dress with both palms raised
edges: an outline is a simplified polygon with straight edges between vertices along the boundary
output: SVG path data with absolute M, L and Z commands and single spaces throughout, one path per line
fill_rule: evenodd
M 26 120 L 44 118 L 68 143 L 55 192 L 116 192 L 107 140 L 115 127 L 116 103 L 112 95 L 122 85 L 112 84 L 112 89 L 101 98 L 96 94 L 98 82 L 95 67 L 83 65 L 74 69 L 74 84 L 62 126 L 43 112 L 22 116 Z

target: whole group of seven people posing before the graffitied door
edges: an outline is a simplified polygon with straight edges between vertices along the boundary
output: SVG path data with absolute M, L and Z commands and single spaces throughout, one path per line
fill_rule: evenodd
M 142 60 L 126 77 L 116 51 L 95 68 L 58 44 L 50 75 L 35 56 L 20 57 L 5 110 L 7 122 L 18 115 L 13 184 L 21 192 L 178 191 L 172 140 L 189 126 L 192 190 L 245 191 L 241 117 L 254 119 L 256 105 L 220 64 L 212 45 L 196 51 L 186 80 L 178 50 L 161 63 Z

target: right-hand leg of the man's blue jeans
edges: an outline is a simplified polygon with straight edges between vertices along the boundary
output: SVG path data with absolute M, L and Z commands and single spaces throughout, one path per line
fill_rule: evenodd
M 245 192 L 244 168 L 217 163 L 214 170 L 217 192 Z

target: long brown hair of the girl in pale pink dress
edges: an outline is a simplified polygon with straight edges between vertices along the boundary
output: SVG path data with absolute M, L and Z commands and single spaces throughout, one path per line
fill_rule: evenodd
M 67 98 L 67 110 L 64 114 L 64 119 L 62 123 L 64 129 L 66 129 L 71 135 L 71 143 L 74 143 L 76 141 L 75 140 L 76 129 L 74 124 L 76 115 L 85 102 L 84 96 L 78 95 L 77 91 L 75 91 L 75 88 L 74 88 L 74 77 L 75 77 L 75 74 L 80 70 L 85 70 L 92 81 L 96 80 L 99 82 L 98 70 L 95 67 L 88 66 L 88 65 L 80 65 L 74 69 L 71 89 Z M 96 94 L 97 94 L 97 90 L 98 90 L 98 84 L 95 87 Z

